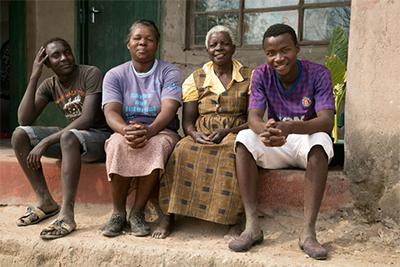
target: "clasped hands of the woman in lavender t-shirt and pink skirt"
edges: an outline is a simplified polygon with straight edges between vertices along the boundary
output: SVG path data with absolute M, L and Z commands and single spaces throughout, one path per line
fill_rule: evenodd
M 122 128 L 126 143 L 132 148 L 142 148 L 147 141 L 154 136 L 151 127 L 135 121 L 129 121 L 128 125 Z

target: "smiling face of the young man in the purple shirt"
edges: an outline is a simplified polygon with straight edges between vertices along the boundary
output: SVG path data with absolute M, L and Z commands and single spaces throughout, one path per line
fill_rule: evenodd
M 282 80 L 297 78 L 297 54 L 299 45 L 295 45 L 289 33 L 267 37 L 263 48 L 267 64 L 274 69 Z

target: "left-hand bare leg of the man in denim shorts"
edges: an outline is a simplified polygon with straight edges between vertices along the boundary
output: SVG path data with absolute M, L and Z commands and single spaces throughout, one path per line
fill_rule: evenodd
M 26 158 L 29 152 L 32 150 L 32 146 L 29 141 L 29 137 L 24 130 L 16 129 L 12 135 L 11 144 L 15 152 L 15 156 L 18 159 L 19 165 L 21 166 L 26 178 L 32 186 L 33 191 L 36 194 L 37 207 L 43 210 L 45 213 L 58 209 L 57 202 L 51 196 L 49 189 L 44 179 L 43 169 L 38 170 L 30 169 L 27 165 Z

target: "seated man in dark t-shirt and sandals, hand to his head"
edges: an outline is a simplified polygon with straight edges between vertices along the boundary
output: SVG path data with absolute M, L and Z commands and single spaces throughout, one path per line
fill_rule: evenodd
M 37 87 L 43 65 L 55 75 Z M 40 237 L 63 237 L 76 228 L 74 203 L 81 161 L 104 161 L 104 141 L 110 132 L 101 111 L 102 74 L 94 66 L 76 65 L 67 41 L 53 38 L 39 49 L 32 74 L 18 108 L 20 124 L 13 133 L 15 155 L 38 200 L 17 220 L 18 226 L 36 224 L 59 213 L 42 230 Z M 65 128 L 32 126 L 50 102 L 54 102 L 68 120 Z M 61 209 L 47 187 L 41 157 L 62 158 Z

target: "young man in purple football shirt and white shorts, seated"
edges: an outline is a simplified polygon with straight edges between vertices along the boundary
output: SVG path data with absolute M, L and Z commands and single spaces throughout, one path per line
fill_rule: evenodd
M 296 167 L 306 169 L 299 246 L 315 259 L 326 259 L 327 250 L 316 239 L 315 223 L 333 157 L 328 134 L 335 108 L 330 74 L 322 65 L 297 59 L 300 47 L 290 26 L 269 27 L 263 49 L 267 64 L 255 69 L 251 82 L 250 129 L 238 134 L 235 147 L 246 227 L 229 248 L 247 251 L 263 241 L 257 218 L 257 166 Z M 264 113 L 268 114 L 267 122 Z

